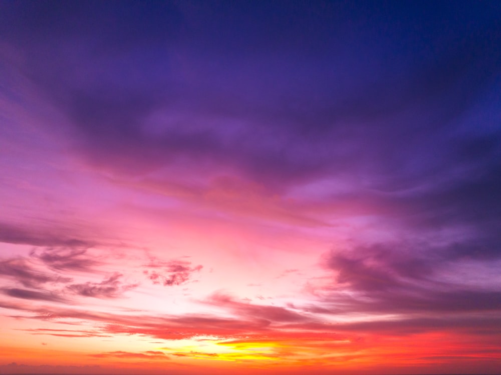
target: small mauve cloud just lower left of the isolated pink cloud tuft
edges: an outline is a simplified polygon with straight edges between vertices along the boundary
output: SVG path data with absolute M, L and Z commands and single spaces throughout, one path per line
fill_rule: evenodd
M 123 284 L 120 281 L 122 276 L 123 275 L 121 273 L 116 272 L 99 283 L 88 281 L 83 284 L 70 284 L 67 285 L 66 288 L 67 290 L 84 297 L 120 298 L 124 292 L 139 285 L 137 283 Z

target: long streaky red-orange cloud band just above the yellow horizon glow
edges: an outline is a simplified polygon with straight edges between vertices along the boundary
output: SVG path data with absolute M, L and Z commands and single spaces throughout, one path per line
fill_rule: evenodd
M 391 297 L 398 298 L 401 295 Z M 491 296 L 485 296 L 485 301 L 489 297 Z M 468 295 L 458 295 L 457 301 L 460 300 L 459 298 L 463 299 L 463 304 L 471 301 L 472 306 L 474 306 L 477 303 L 477 301 L 471 300 Z M 391 300 L 389 299 L 381 300 L 376 306 L 368 304 L 368 308 L 365 310 L 363 303 L 357 300 L 343 301 L 342 299 L 329 299 L 327 301 L 320 301 L 319 303 L 323 303 L 323 306 L 328 306 L 328 302 L 334 306 L 337 304 L 343 305 L 341 313 L 332 311 L 334 317 L 346 316 L 346 314 L 350 314 L 350 311 L 355 312 L 355 316 L 367 311 L 382 313 L 382 315 L 373 314 L 370 320 L 360 320 L 357 318 L 347 320 L 334 319 L 334 321 L 332 319 L 325 320 L 325 314 L 327 313 L 325 310 L 320 312 L 321 315 L 316 315 L 313 312 L 296 312 L 301 311 L 300 307 L 295 307 L 294 311 L 292 311 L 277 306 L 247 304 L 235 301 L 220 292 L 210 296 L 205 303 L 218 306 L 226 315 L 229 314 L 233 317 L 220 317 L 207 314 L 183 314 L 176 316 L 166 314 L 131 315 L 127 313 L 124 315 L 85 311 L 79 308 L 67 308 L 57 305 L 40 307 L 22 303 L 3 304 L 2 301 L 0 301 L 0 307 L 23 311 L 24 315 L 22 318 L 44 321 L 57 319 L 58 322 L 65 322 L 68 319 L 70 321 L 78 319 L 79 321 L 93 322 L 94 327 L 90 331 L 52 330 L 46 328 L 30 330 L 34 334 L 50 334 L 63 337 L 128 334 L 164 340 L 213 336 L 221 338 L 222 341 L 235 341 L 235 345 L 238 345 L 239 340 L 260 341 L 266 338 L 269 341 L 277 342 L 277 350 L 290 347 L 291 352 L 296 352 L 298 347 L 304 347 L 305 350 L 310 351 L 317 350 L 314 348 L 325 351 L 327 347 L 337 348 L 337 350 L 341 347 L 346 347 L 346 350 L 350 351 L 353 349 L 352 345 L 358 345 L 357 342 L 363 343 L 365 339 L 370 340 L 374 335 L 379 335 L 379 337 L 383 335 L 385 339 L 388 339 L 388 337 L 394 337 L 395 339 L 403 339 L 404 337 L 416 339 L 415 335 L 426 335 L 433 332 L 459 334 L 471 342 L 478 342 L 480 340 L 484 345 L 482 346 L 482 350 L 488 350 L 488 343 L 491 341 L 495 342 L 499 335 L 501 335 L 501 331 L 499 330 L 501 324 L 499 324 L 500 321 L 497 317 L 491 314 L 482 314 L 481 310 L 474 308 L 463 309 L 462 311 L 453 311 L 450 308 L 444 308 L 443 306 L 446 306 L 450 300 L 444 300 L 442 307 L 435 310 L 422 309 L 419 307 L 419 303 L 416 303 L 414 306 L 406 306 L 409 309 L 399 309 L 398 306 L 396 308 L 391 306 L 391 308 L 386 310 L 380 308 L 383 304 L 390 305 Z M 351 302 L 352 305 L 350 306 L 347 302 Z M 403 304 L 405 305 L 405 302 Z M 350 307 L 353 306 L 355 306 L 355 309 L 351 310 Z M 388 312 L 390 312 L 391 316 L 387 314 Z M 410 312 L 410 314 L 403 312 Z M 231 346 L 231 342 L 228 345 Z M 366 349 L 367 345 L 369 344 L 364 344 Z M 381 345 L 381 342 L 378 341 L 377 345 Z M 286 348 L 284 350 L 287 351 Z M 280 354 L 277 351 L 275 353 Z M 141 352 L 140 354 L 152 355 L 153 353 Z M 126 357 L 128 354 L 123 352 L 99 354 L 99 356 L 106 355 L 123 355 Z M 140 355 L 140 357 L 143 356 Z

